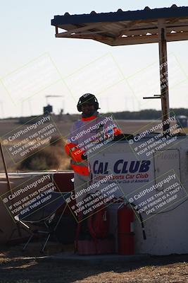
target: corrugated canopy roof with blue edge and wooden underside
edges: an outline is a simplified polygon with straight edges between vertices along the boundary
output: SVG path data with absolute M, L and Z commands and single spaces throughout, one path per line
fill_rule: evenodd
M 188 6 L 170 8 L 145 7 L 144 10 L 54 16 L 56 37 L 84 38 L 108 45 L 158 42 L 158 23 L 163 19 L 166 40 L 188 39 Z M 63 32 L 59 33 L 61 28 Z

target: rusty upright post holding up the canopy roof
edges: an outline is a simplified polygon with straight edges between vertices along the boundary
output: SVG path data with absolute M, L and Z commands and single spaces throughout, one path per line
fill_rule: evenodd
M 159 47 L 159 62 L 160 62 L 160 82 L 161 82 L 161 108 L 162 121 L 165 122 L 169 118 L 169 96 L 168 96 L 168 60 L 167 60 L 167 45 L 165 20 L 158 19 L 158 47 Z M 163 132 L 170 128 L 170 123 L 163 124 Z

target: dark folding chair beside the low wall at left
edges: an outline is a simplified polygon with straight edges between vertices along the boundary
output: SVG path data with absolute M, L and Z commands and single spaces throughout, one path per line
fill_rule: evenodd
M 23 229 L 30 233 L 30 238 L 23 247 L 23 250 L 27 248 L 28 244 L 34 236 L 37 234 L 46 235 L 44 245 L 42 246 L 42 252 L 46 247 L 46 244 L 49 241 L 51 235 L 54 235 L 56 228 L 58 226 L 63 212 L 59 217 L 58 221 L 55 221 L 56 211 L 61 205 L 63 205 L 67 198 L 69 198 L 71 192 L 49 192 L 48 195 L 41 194 L 38 197 L 38 200 L 32 202 L 30 205 L 25 207 L 23 211 L 15 216 L 15 220 L 23 225 Z M 32 226 L 42 227 L 43 230 L 33 229 Z

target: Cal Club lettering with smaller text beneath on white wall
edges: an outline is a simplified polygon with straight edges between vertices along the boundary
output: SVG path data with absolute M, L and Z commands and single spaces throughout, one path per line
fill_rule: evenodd
M 96 179 L 104 178 L 103 175 L 113 174 L 113 179 L 118 183 L 145 183 L 149 181 L 151 161 L 126 161 L 118 159 L 113 164 L 95 160 L 92 173 Z

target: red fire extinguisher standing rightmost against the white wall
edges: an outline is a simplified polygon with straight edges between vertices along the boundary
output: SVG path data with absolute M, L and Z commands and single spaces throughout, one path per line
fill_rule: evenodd
M 134 254 L 134 212 L 127 204 L 118 209 L 118 253 Z

